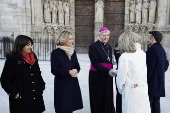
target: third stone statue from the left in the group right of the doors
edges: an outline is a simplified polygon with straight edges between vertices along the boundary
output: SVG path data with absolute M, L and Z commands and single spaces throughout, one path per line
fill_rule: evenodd
M 148 23 L 149 0 L 144 0 L 142 6 L 142 24 Z

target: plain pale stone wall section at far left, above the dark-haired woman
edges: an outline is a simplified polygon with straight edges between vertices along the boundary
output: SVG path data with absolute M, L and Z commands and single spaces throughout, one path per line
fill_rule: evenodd
M 31 14 L 29 0 L 0 1 L 0 35 L 30 35 Z

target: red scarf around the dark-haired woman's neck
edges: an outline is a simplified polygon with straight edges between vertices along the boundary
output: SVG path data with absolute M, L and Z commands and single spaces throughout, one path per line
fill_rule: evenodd
M 34 53 L 31 52 L 28 55 L 25 55 L 24 53 L 22 53 L 22 59 L 25 60 L 25 62 L 27 62 L 30 65 L 34 65 L 35 63 L 35 58 L 34 58 Z

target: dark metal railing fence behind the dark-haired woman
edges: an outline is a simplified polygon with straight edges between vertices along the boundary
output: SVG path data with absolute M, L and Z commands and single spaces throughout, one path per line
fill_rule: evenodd
M 55 39 L 51 38 L 32 38 L 33 52 L 37 55 L 38 60 L 50 60 L 51 52 L 56 48 Z M 0 37 L 0 59 L 5 59 L 6 52 L 11 51 L 14 44 L 13 37 Z

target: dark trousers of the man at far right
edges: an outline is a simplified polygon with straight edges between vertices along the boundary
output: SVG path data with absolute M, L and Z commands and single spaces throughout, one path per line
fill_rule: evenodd
M 160 97 L 149 97 L 151 113 L 160 113 Z

